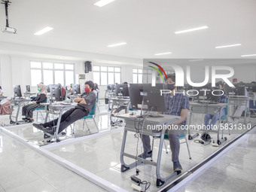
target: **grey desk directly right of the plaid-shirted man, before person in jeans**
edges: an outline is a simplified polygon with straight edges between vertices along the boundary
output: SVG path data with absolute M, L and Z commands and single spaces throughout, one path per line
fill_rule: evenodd
M 217 133 L 217 143 L 218 145 L 221 145 L 222 142 L 227 140 L 225 139 L 220 139 L 220 124 L 221 124 L 221 111 L 224 107 L 227 106 L 227 103 L 198 103 L 198 102 L 190 102 L 190 118 L 189 118 L 189 123 L 188 123 L 188 140 L 194 139 L 195 137 L 199 136 L 198 133 L 196 133 L 194 136 L 190 135 L 190 125 L 191 125 L 191 119 L 192 119 L 192 114 L 197 113 L 197 114 L 216 114 L 217 112 L 219 113 L 219 118 L 218 118 L 218 133 Z M 219 110 L 219 111 L 218 111 Z

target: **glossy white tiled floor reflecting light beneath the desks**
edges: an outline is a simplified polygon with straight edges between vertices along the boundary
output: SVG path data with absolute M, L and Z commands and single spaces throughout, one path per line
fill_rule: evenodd
M 59 157 L 62 157 L 63 159 L 68 160 L 69 162 L 74 163 L 77 166 L 80 166 L 81 169 L 90 171 L 93 174 L 99 176 L 100 178 L 103 178 L 106 181 L 110 181 L 111 183 L 116 184 L 117 186 L 122 187 L 127 191 L 133 191 L 130 187 L 130 175 L 135 174 L 135 169 L 130 169 L 127 172 L 123 173 L 120 172 L 120 146 L 122 142 L 123 131 L 114 130 L 111 132 L 107 131 L 102 134 L 103 131 L 109 129 L 108 119 L 109 114 L 107 111 L 107 107 L 105 105 L 100 105 L 98 115 L 96 117 L 96 121 L 99 125 L 99 130 L 101 132 L 100 134 L 93 134 L 92 136 L 85 136 L 84 138 L 79 138 L 83 135 L 96 132 L 96 128 L 95 126 L 93 126 L 93 123 L 90 123 L 90 131 L 83 132 L 81 129 L 82 121 L 79 121 L 75 124 L 75 136 L 72 136 L 72 134 L 70 134 L 70 129 L 68 129 L 68 134 L 66 137 L 69 138 L 69 140 L 60 142 L 58 146 L 56 146 L 55 144 L 50 144 L 42 148 L 46 148 L 51 153 L 56 154 Z M 8 124 L 7 116 L 1 116 L 0 120 L 1 122 Z M 194 115 L 194 122 L 202 122 L 202 116 Z M 31 123 L 21 126 L 7 126 L 6 129 L 36 145 L 38 145 L 38 142 L 43 140 L 43 133 L 33 128 Z M 215 134 L 212 133 L 211 136 L 215 137 Z M 230 140 L 233 139 L 236 135 L 231 134 L 231 136 L 228 136 L 227 134 L 225 134 L 225 136 L 227 136 L 228 140 Z M 78 140 L 75 141 L 76 139 L 74 138 L 78 138 Z M 36 151 L 33 151 L 30 148 L 27 148 L 25 145 L 21 145 L 20 142 L 17 142 L 15 139 L 11 139 L 9 136 L 5 136 L 4 133 L 2 133 L 1 141 L 2 153 L 0 158 L 1 162 L 5 161 L 5 163 L 1 163 L 1 165 L 5 167 L 6 172 L 10 172 L 9 178 L 8 175 L 3 175 L 3 180 L 2 177 L 0 177 L 0 184 L 2 185 L 3 191 L 18 191 L 20 189 L 23 189 L 20 187 L 27 187 L 28 190 L 25 191 L 30 191 L 29 188 L 32 189 L 33 187 L 29 187 L 29 185 L 32 184 L 33 186 L 32 181 L 35 180 L 39 180 L 38 183 L 41 180 L 46 181 L 50 185 L 50 187 L 52 187 L 49 189 L 47 189 L 46 187 L 44 191 L 64 191 L 64 188 L 66 189 L 65 191 L 76 191 L 76 188 L 72 189 L 70 187 L 77 187 L 78 190 L 80 188 L 79 191 L 81 191 L 84 188 L 83 186 L 87 185 L 89 187 L 92 186 L 95 188 L 92 188 L 92 190 L 90 190 L 89 188 L 86 191 L 102 190 L 101 188 L 96 187 L 96 185 L 90 183 L 90 181 L 81 178 L 75 173 L 69 171 L 68 169 L 63 168 L 62 166 L 56 165 L 56 163 L 53 163 L 51 160 L 47 160 L 46 157 L 43 157 L 41 154 L 38 154 Z M 136 154 L 136 141 L 137 139 L 134 138 L 133 134 L 128 134 L 126 152 Z M 15 145 L 10 145 L 10 143 L 15 143 Z M 197 165 L 197 163 L 200 163 L 203 159 L 209 157 L 209 155 L 218 150 L 218 147 L 216 148 L 212 147 L 211 145 L 200 145 L 193 141 L 189 141 L 189 145 L 192 160 L 188 159 L 186 145 L 181 145 L 180 161 L 181 165 L 183 166 L 184 172 L 191 169 L 193 166 Z M 157 147 L 158 142 L 155 142 L 155 151 L 157 151 Z M 141 147 L 139 145 L 139 153 L 140 152 Z M 154 153 L 154 160 L 156 160 L 156 155 L 157 153 Z M 126 159 L 126 162 L 132 163 L 133 160 Z M 21 167 L 11 168 L 12 166 Z M 56 170 L 53 169 L 53 167 L 56 167 Z M 156 178 L 154 167 L 151 167 L 149 165 L 142 165 L 138 166 L 138 168 L 140 170 L 139 178 L 151 181 L 151 187 L 148 191 L 159 190 L 155 186 Z M 19 172 L 20 169 L 21 171 Z M 22 179 L 19 179 L 20 177 L 30 178 L 30 176 L 24 177 L 23 170 L 25 169 L 29 169 L 27 175 L 29 175 L 31 172 L 32 175 L 33 173 L 39 173 L 38 178 L 36 176 L 32 176 L 32 178 L 37 178 L 35 180 L 32 179 L 32 181 L 23 181 Z M 36 172 L 35 169 L 40 170 Z M 69 173 L 63 174 L 64 170 Z M 169 152 L 169 154 L 166 154 L 165 150 L 163 150 L 161 174 L 168 175 L 170 172 L 172 172 L 171 153 Z M 11 175 L 13 174 L 17 175 L 17 181 L 11 180 Z M 46 176 L 44 177 L 44 175 Z M 73 178 L 75 181 L 73 180 Z M 73 184 L 75 182 L 78 182 L 76 181 L 76 178 L 79 178 L 79 184 L 81 185 Z M 5 186 L 5 184 L 3 184 L 3 182 L 5 183 L 5 181 L 9 181 L 11 187 Z M 12 184 L 13 182 L 14 184 Z M 44 184 L 41 185 L 43 186 Z M 35 183 L 35 187 L 41 185 Z M 202 188 L 201 190 L 204 189 Z M 38 190 L 35 189 L 31 191 L 43 190 L 38 187 Z

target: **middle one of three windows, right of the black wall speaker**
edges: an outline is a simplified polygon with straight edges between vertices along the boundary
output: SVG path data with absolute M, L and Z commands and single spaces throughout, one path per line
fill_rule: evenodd
M 120 84 L 121 68 L 108 66 L 93 66 L 93 81 L 99 85 Z

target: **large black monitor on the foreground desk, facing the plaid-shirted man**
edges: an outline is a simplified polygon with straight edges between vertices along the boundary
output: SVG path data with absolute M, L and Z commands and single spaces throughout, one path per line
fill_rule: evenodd
M 163 84 L 156 84 L 152 87 L 151 84 L 130 84 L 130 102 L 132 108 L 151 110 L 151 111 L 166 111 L 164 101 L 165 94 L 160 94 L 160 90 L 164 90 Z M 142 106 L 143 101 L 143 106 Z

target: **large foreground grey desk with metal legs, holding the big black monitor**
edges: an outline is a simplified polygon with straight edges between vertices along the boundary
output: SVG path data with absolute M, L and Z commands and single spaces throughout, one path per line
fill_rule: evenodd
M 162 156 L 162 148 L 163 148 L 163 139 L 164 139 L 164 133 L 166 132 L 166 129 L 164 129 L 164 124 L 170 124 L 170 123 L 175 123 L 177 122 L 178 119 L 180 119 L 179 116 L 174 116 L 174 115 L 169 115 L 169 114 L 161 114 L 163 117 L 147 117 L 145 120 L 143 118 L 139 117 L 133 117 L 130 116 L 130 114 L 120 114 L 117 115 L 117 117 L 122 118 L 126 121 L 126 126 L 124 127 L 123 131 L 123 142 L 122 142 L 122 147 L 120 151 L 120 163 L 121 163 L 121 172 L 125 172 L 128 169 L 132 169 L 133 167 L 142 162 L 149 163 L 152 166 L 156 166 L 156 175 L 157 175 L 157 186 L 163 185 L 169 178 L 172 178 L 175 175 L 178 175 L 181 172 L 173 172 L 172 174 L 166 176 L 166 178 L 162 178 L 160 175 L 160 162 L 161 162 L 161 156 Z M 144 121 L 144 128 L 142 130 L 142 127 L 136 128 L 134 127 L 135 123 L 139 123 L 141 121 Z M 163 129 L 162 130 L 147 130 L 148 125 L 162 125 Z M 126 136 L 127 132 L 133 132 L 133 133 L 142 133 L 147 136 L 160 136 L 160 145 L 159 145 L 159 150 L 157 154 L 157 162 L 151 161 L 151 160 L 145 160 L 140 157 L 136 157 L 132 154 L 127 154 L 124 152 L 125 144 L 126 144 Z M 130 157 L 132 159 L 135 159 L 136 162 L 131 163 L 130 165 L 127 165 L 124 163 L 123 157 Z

